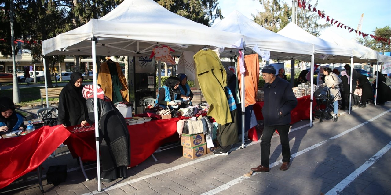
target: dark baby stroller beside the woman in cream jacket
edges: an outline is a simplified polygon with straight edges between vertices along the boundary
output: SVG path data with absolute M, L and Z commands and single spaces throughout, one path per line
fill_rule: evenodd
M 338 95 L 338 94 L 337 94 Z M 312 121 L 315 118 L 319 119 L 319 122 L 323 122 L 323 119 L 332 119 L 334 122 L 338 121 L 338 116 L 331 114 L 333 108 L 334 96 L 330 92 L 330 88 L 325 85 L 319 86 L 319 88 L 314 92 L 314 97 L 316 100 L 316 106 L 312 112 Z M 323 110 L 321 106 L 325 107 Z

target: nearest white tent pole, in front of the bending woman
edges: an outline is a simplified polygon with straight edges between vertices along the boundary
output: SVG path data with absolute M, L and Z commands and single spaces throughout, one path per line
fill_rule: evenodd
M 97 61 L 96 61 L 96 48 L 95 40 L 96 38 L 91 35 L 92 43 L 92 80 L 94 85 L 94 120 L 95 120 L 95 143 L 97 149 L 97 172 L 98 172 L 98 191 L 101 191 L 100 188 L 100 159 L 99 159 L 99 121 L 98 121 L 98 94 L 97 94 Z

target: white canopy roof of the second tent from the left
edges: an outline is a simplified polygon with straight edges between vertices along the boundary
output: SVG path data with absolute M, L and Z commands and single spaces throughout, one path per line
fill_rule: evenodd
M 235 10 L 211 28 L 245 35 L 244 47 L 258 46 L 260 50 L 270 51 L 271 59 L 292 60 L 302 55 L 308 58 L 314 53 L 313 44 L 289 39 L 278 35 L 250 20 Z

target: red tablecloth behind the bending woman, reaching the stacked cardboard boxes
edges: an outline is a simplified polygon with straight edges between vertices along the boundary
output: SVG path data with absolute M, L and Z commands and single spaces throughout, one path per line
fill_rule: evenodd
M 143 124 L 129 125 L 130 137 L 130 162 L 129 167 L 134 167 L 147 159 L 162 144 L 179 141 L 176 131 L 177 121 L 185 117 L 154 120 Z M 75 158 L 81 157 L 82 161 L 95 161 L 95 132 L 72 133 L 64 144 Z

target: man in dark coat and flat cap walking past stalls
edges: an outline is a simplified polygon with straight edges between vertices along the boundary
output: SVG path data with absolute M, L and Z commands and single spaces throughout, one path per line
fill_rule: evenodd
M 274 130 L 280 135 L 282 145 L 282 166 L 280 170 L 288 170 L 291 161 L 289 148 L 289 123 L 291 122 L 291 110 L 296 107 L 297 99 L 294 96 L 292 86 L 286 80 L 275 76 L 276 69 L 273 66 L 265 66 L 262 69 L 264 85 L 264 131 L 261 142 L 261 165 L 251 170 L 255 172 L 269 172 L 270 142 Z

